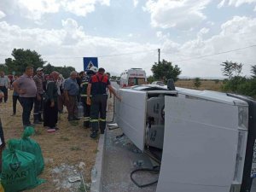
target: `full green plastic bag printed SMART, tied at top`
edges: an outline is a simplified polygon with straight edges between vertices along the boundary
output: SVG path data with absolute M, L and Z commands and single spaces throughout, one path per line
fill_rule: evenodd
M 9 140 L 9 148 L 3 151 L 1 183 L 5 192 L 18 192 L 44 183 L 37 177 L 35 155 L 15 149 L 19 142 Z

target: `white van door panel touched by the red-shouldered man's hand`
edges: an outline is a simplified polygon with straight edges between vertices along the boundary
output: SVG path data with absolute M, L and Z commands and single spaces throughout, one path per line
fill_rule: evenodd
M 118 90 L 122 104 L 115 103 L 115 121 L 124 131 L 125 135 L 143 151 L 146 126 L 146 91 Z

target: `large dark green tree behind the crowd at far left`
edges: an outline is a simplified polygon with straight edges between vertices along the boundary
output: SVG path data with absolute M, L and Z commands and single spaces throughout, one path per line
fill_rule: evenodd
M 5 65 L 8 67 L 8 73 L 15 72 L 16 74 L 20 75 L 28 66 L 36 69 L 38 67 L 43 67 L 46 63 L 46 61 L 41 58 L 41 55 L 30 49 L 14 49 L 12 56 L 15 59 L 5 59 Z

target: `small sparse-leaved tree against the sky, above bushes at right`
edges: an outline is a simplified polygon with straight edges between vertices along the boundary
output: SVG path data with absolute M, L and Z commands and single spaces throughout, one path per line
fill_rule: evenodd
M 220 64 L 224 68 L 221 69 L 224 76 L 227 76 L 230 80 L 232 77 L 240 76 L 242 64 L 238 64 L 237 62 L 232 61 L 224 61 L 222 64 Z

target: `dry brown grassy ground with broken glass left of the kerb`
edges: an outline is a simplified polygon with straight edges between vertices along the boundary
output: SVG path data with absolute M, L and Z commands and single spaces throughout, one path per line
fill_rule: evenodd
M 9 90 L 8 102 L 0 104 L 0 117 L 6 141 L 21 137 L 21 113 L 20 103 L 17 103 L 17 114 L 11 116 L 12 90 Z M 83 119 L 69 123 L 67 110 L 59 115 L 58 127 L 59 131 L 49 133 L 43 125 L 35 126 L 36 134 L 32 138 L 40 144 L 45 160 L 44 172 L 39 177 L 44 178 L 46 183 L 27 191 L 83 191 L 80 187 L 81 182 L 68 182 L 68 177 L 79 176 L 80 172 L 83 173 L 84 183 L 90 183 L 90 172 L 95 163 L 98 141 L 90 139 L 90 130 L 84 129 Z M 83 168 L 79 168 L 81 163 L 84 165 Z

